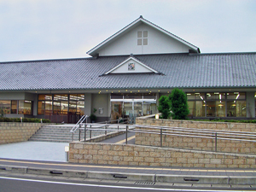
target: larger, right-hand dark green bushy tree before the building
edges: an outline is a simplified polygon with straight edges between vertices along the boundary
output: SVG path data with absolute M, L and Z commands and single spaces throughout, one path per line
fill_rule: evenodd
M 183 90 L 177 88 L 172 90 L 172 93 L 168 98 L 171 104 L 172 119 L 188 119 L 188 99 Z

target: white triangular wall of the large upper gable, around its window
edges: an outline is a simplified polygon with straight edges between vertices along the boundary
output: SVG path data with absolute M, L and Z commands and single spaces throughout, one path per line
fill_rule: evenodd
M 137 45 L 138 31 L 148 31 L 148 45 Z M 99 50 L 100 56 L 166 53 L 189 53 L 189 47 L 144 23 L 121 35 L 111 44 L 106 44 Z

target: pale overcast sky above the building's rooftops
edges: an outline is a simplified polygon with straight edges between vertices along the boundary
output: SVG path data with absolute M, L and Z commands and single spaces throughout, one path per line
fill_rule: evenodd
M 140 15 L 201 53 L 256 52 L 256 0 L 0 0 L 0 61 L 88 57 Z

